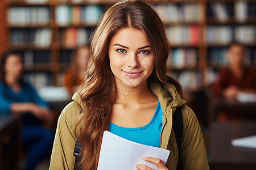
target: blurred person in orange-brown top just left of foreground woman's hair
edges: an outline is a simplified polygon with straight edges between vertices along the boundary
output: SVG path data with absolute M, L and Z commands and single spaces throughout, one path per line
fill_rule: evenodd
M 84 82 L 89 56 L 89 45 L 81 46 L 73 53 L 72 66 L 64 74 L 64 86 L 69 96 L 72 96 Z

